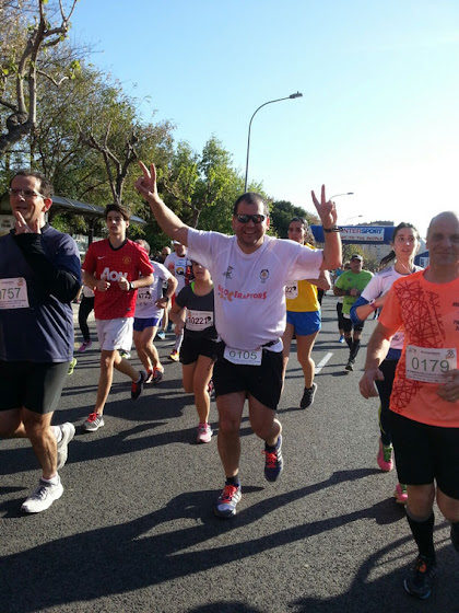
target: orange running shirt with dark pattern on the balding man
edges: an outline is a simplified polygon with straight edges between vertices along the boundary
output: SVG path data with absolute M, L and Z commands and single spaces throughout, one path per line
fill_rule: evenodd
M 436 393 L 440 383 L 417 381 L 407 374 L 407 361 L 410 368 L 413 355 L 420 356 L 419 360 L 414 357 L 414 365 L 420 370 L 424 362 L 432 371 L 434 360 L 429 360 L 428 354 L 423 354 L 420 348 L 450 349 L 452 351 L 446 351 L 449 356 L 456 350 L 456 360 L 452 360 L 456 366 L 450 368 L 459 368 L 459 279 L 449 284 L 432 284 L 425 280 L 424 273 L 414 273 L 395 281 L 379 315 L 379 322 L 391 332 L 404 331 L 390 409 L 422 424 L 458 428 L 459 401 L 451 403 L 440 398 Z M 409 346 L 414 349 L 407 352 Z

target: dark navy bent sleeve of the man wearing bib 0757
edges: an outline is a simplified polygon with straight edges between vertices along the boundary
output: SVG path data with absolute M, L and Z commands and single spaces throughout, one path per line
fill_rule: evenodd
M 42 234 L 17 234 L 14 239 L 43 289 L 59 302 L 71 302 L 81 288 L 81 263 L 74 241 L 70 236 L 63 240 L 51 261 L 43 248 Z

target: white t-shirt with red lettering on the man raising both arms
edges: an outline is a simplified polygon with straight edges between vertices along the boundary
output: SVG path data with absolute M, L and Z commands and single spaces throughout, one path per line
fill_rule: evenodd
M 188 229 L 188 256 L 209 268 L 214 284 L 215 326 L 229 347 L 254 350 L 285 329 L 287 280 L 317 279 L 322 251 L 264 236 L 245 254 L 236 236 Z M 282 344 L 272 347 L 281 350 Z

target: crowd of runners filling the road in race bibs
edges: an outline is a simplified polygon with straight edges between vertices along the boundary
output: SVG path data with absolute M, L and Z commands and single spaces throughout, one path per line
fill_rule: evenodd
M 75 427 L 54 425 L 52 416 L 74 363 L 71 301 L 82 286 L 79 350 L 93 344 L 87 316 L 94 309 L 101 368 L 94 410 L 81 428 L 93 432 L 105 426 L 114 369 L 131 380 L 132 401 L 145 384 L 161 383 L 155 337 L 167 329 L 168 314 L 175 333 L 169 359 L 180 360 L 184 390 L 193 394 L 198 443 L 212 440 L 215 395 L 224 485 L 214 513 L 232 518 L 243 495 L 239 430 L 246 401 L 250 426 L 263 443 L 264 477 L 274 482 L 284 469 L 276 408 L 291 344 L 295 338 L 304 374 L 298 406 L 307 408 L 320 393 L 311 355 L 321 326 L 319 292 L 331 288 L 329 271 L 339 270 L 337 342 L 349 346 L 346 371 L 354 370 L 365 320 L 378 313 L 358 386 L 365 398 L 379 396 L 376 461 L 382 471 L 397 470 L 396 500 L 405 505 L 419 548 L 404 587 L 427 598 L 436 571 L 434 500 L 450 521 L 459 552 L 458 215 L 432 219 L 428 268 L 414 265 L 419 231 L 400 223 L 392 252 L 372 275 L 357 253 L 342 264 L 337 209 L 323 186 L 320 197 L 311 193 L 325 236 L 316 248 L 302 218 L 291 220 L 290 240 L 268 235 L 268 205 L 255 193 L 234 205 L 234 235 L 190 228 L 158 196 L 154 165 L 141 163 L 141 170 L 136 187 L 172 240 L 174 251 L 162 250 L 163 263 L 150 259 L 145 241 L 128 240 L 129 211 L 118 205 L 106 207 L 108 238 L 92 243 L 81 263 L 74 241 L 46 222 L 49 182 L 22 171 L 10 183 L 15 224 L 0 238 L 0 436 L 27 438 L 42 469 L 22 510 L 46 510 L 63 493 L 58 471 Z M 126 357 L 132 344 L 141 370 Z

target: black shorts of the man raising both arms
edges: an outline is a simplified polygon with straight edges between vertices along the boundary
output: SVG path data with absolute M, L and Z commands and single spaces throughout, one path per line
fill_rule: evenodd
M 282 391 L 282 351 L 262 350 L 260 366 L 234 365 L 223 357 L 224 343 L 219 343 L 219 359 L 213 367 L 215 396 L 247 392 L 268 408 L 275 410 Z

